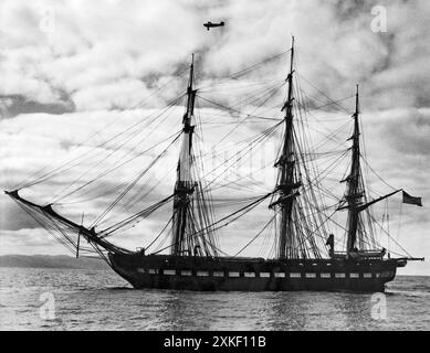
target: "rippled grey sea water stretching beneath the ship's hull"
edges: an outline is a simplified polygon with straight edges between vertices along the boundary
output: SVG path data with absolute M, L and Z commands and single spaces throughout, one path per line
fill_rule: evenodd
M 430 330 L 430 277 L 398 277 L 386 309 L 379 300 L 134 290 L 111 270 L 0 268 L 0 330 Z

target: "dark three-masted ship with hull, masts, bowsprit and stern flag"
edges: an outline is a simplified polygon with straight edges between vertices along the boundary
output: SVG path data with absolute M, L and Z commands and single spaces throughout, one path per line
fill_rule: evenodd
M 352 117 L 353 135 L 347 149 L 349 167 L 345 178 L 339 180 L 346 188 L 344 195 L 338 196 L 333 211 L 333 214 L 347 214 L 343 227 L 345 233 L 342 235 L 345 236 L 346 244 L 342 252 L 338 250 L 339 246 L 335 244 L 335 239 L 339 235 L 331 234 L 326 226 L 332 222 L 332 215 L 326 215 L 327 208 L 318 204 L 315 185 L 322 180 L 313 179 L 311 175 L 311 168 L 307 165 L 310 154 L 304 153 L 304 146 L 297 136 L 296 126 L 300 119 L 295 111 L 303 103 L 294 94 L 297 92 L 294 86 L 296 75 L 294 51 L 293 40 L 293 45 L 287 51 L 291 54 L 291 65 L 285 79 L 286 98 L 279 107 L 283 118 L 276 121 L 275 126 L 283 129 L 274 163 L 277 169 L 276 183 L 273 190 L 258 195 L 229 215 L 216 220 L 211 207 L 210 188 L 204 178 L 199 179 L 196 167 L 198 158 L 195 154 L 197 128 L 195 117 L 199 89 L 195 85 L 193 60 L 185 94 L 186 113 L 182 126 L 174 139 L 175 142 L 180 140 L 181 147 L 171 194 L 104 229 L 96 229 L 95 223 L 93 226 L 84 226 L 83 220 L 81 223 L 72 221 L 72 217 L 56 212 L 54 203 L 38 204 L 21 196 L 22 189 L 45 181 L 49 173 L 39 174 L 35 183 L 8 191 L 7 194 L 53 234 L 60 234 L 61 242 L 75 250 L 76 256 L 80 250 L 84 252 L 82 242 L 86 240 L 86 246 L 102 256 L 135 288 L 204 291 L 384 291 L 385 285 L 395 278 L 397 268 L 405 267 L 408 260 L 416 260 L 416 258 L 391 257 L 385 248 L 377 247 L 375 242 L 370 242 L 373 239 L 368 229 L 371 227 L 370 208 L 374 204 L 402 190 L 394 190 L 374 200 L 368 197 L 361 168 L 363 149 L 357 85 L 355 111 Z M 273 127 L 265 129 L 263 136 L 271 135 L 273 130 Z M 130 185 L 124 186 L 124 190 L 116 188 L 122 191 L 120 195 L 105 213 L 111 212 L 120 197 L 133 190 L 136 180 L 140 180 L 150 168 L 156 165 L 160 156 L 157 156 Z M 55 174 L 57 171 L 59 169 L 53 169 L 51 173 Z M 88 182 L 80 188 L 86 184 Z M 419 199 L 411 197 L 405 192 L 403 201 L 412 204 L 421 203 Z M 130 202 L 136 203 L 136 199 L 132 199 Z M 234 223 L 249 210 L 264 202 L 269 205 L 265 212 L 273 214 L 274 256 L 271 258 L 239 257 L 241 252 L 237 256 L 224 255 L 220 249 L 217 231 Z M 145 248 L 137 250 L 119 247 L 108 239 L 112 233 L 122 232 L 125 226 L 140 222 L 165 205 L 171 207 L 171 217 L 162 229 L 169 234 L 169 245 L 161 246 L 157 252 L 150 252 L 151 245 L 162 232 Z M 231 232 L 229 236 L 233 237 L 234 231 Z M 249 233 L 252 232 L 254 229 L 250 228 Z

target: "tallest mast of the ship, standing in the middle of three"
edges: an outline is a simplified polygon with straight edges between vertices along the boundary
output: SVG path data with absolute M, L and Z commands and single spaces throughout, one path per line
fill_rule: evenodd
M 295 152 L 294 152 L 294 137 L 293 137 L 293 75 L 294 75 L 294 36 L 292 39 L 291 47 L 291 65 L 290 74 L 286 78 L 289 82 L 289 96 L 282 110 L 285 110 L 285 133 L 282 147 L 282 153 L 275 167 L 280 169 L 276 190 L 280 192 L 277 201 L 272 203 L 281 207 L 281 229 L 279 237 L 279 258 L 293 257 L 293 210 L 297 189 L 301 186 L 300 182 L 294 181 L 295 175 Z

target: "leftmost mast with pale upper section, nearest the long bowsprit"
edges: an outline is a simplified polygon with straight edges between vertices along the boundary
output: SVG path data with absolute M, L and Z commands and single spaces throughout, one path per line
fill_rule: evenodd
M 183 255 L 185 252 L 192 250 L 187 245 L 186 228 L 190 207 L 190 196 L 195 192 L 195 182 L 191 175 L 191 149 L 192 135 L 195 126 L 192 126 L 192 116 L 195 110 L 195 100 L 197 89 L 193 89 L 193 71 L 195 55 L 190 66 L 190 76 L 187 88 L 187 111 L 182 120 L 182 146 L 180 149 L 179 161 L 177 167 L 177 180 L 175 184 L 175 201 L 174 201 L 174 218 L 172 218 L 172 255 Z

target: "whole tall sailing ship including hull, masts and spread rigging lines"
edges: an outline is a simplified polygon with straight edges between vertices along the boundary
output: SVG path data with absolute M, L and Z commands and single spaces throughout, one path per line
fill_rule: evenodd
M 331 132 L 326 140 L 322 140 L 316 146 L 311 147 L 308 140 L 306 140 L 307 130 L 305 125 L 312 125 L 313 122 L 305 121 L 303 118 L 303 115 L 307 111 L 305 107 L 306 99 L 298 86 L 298 74 L 294 60 L 294 39 L 289 51 L 241 69 L 230 75 L 230 77 L 223 78 L 219 85 L 222 87 L 226 82 L 239 82 L 244 75 L 259 69 L 263 65 L 269 65 L 273 60 L 284 57 L 287 53 L 291 55 L 291 65 L 286 79 L 283 78 L 281 85 L 274 88 L 268 86 L 264 82 L 265 84 L 261 86 L 264 92 L 260 92 L 260 94 L 256 92 L 254 95 L 254 97 L 256 96 L 254 101 L 259 101 L 259 107 L 264 107 L 275 93 L 277 94 L 282 87 L 286 86 L 283 101 L 277 107 L 277 111 L 281 111 L 282 115 L 279 119 L 250 113 L 243 114 L 240 108 L 232 108 L 227 104 L 202 98 L 200 92 L 204 89 L 196 88 L 195 61 L 192 57 L 189 67 L 188 87 L 186 93 L 181 95 L 186 99 L 186 113 L 180 131 L 161 141 L 168 143 L 166 149 L 151 158 L 145 168 L 139 169 L 132 182 L 126 185 L 118 182 L 117 185 L 113 186 L 102 184 L 102 186 L 95 189 L 98 191 L 97 196 L 117 196 L 91 225 L 84 225 L 86 221 L 82 210 L 67 216 L 55 210 L 60 205 L 67 205 L 67 203 L 57 201 L 36 203 L 31 201 L 31 197 L 21 195 L 24 190 L 43 184 L 73 168 L 78 168 L 81 159 L 88 157 L 88 153 L 91 154 L 88 151 L 60 167 L 40 171 L 30 182 L 6 193 L 33 218 L 52 232 L 62 244 L 76 253 L 76 256 L 80 253 L 84 256 L 93 253 L 98 254 L 114 271 L 135 288 L 204 291 L 384 291 L 385 285 L 395 278 L 398 267 L 405 267 L 409 260 L 419 259 L 409 255 L 394 257 L 392 253 L 378 244 L 374 229 L 376 220 L 373 216 L 371 208 L 399 192 L 402 192 L 403 203 L 422 204 L 420 199 L 412 197 L 402 190 L 392 190 L 380 197 L 369 197 L 363 173 L 363 158 L 365 154 L 361 143 L 358 85 L 354 95 L 355 111 L 352 116 L 352 136 L 348 140 L 345 139 L 342 142 L 349 143 L 349 146 L 342 151 L 332 150 L 319 154 L 318 151 L 324 149 L 324 141 L 333 139 L 336 131 L 332 131 L 333 133 Z M 212 87 L 213 85 L 216 84 L 212 84 Z M 245 85 L 251 84 L 245 82 Z M 338 101 L 332 100 L 326 95 L 324 96 L 329 99 L 326 106 L 339 107 Z M 223 195 L 230 194 L 231 189 L 228 188 L 233 185 L 233 190 L 234 188 L 239 190 L 243 184 L 248 186 L 247 190 L 251 189 L 252 193 L 253 183 L 250 182 L 247 175 L 241 175 L 241 178 L 230 183 L 221 184 L 219 179 L 222 173 L 216 174 L 213 171 L 221 169 L 224 164 L 228 164 L 227 171 L 234 168 L 234 163 L 226 163 L 226 161 L 204 174 L 202 156 L 209 153 L 197 153 L 197 142 L 202 140 L 202 128 L 204 126 L 204 121 L 197 119 L 201 110 L 197 108 L 197 101 L 200 98 L 204 99 L 206 104 L 213 104 L 217 109 L 230 114 L 231 119 L 233 119 L 234 114 L 238 114 L 235 117 L 237 124 L 233 121 L 235 124 L 234 128 L 227 133 L 229 136 L 247 121 L 256 119 L 260 122 L 260 126 L 263 127 L 262 131 L 259 131 L 256 137 L 245 140 L 248 146 L 242 151 L 243 154 L 252 153 L 270 138 L 277 138 L 281 142 L 279 153 L 273 159 L 277 178 L 272 190 L 268 190 L 265 193 L 255 192 L 254 195 L 235 200 L 235 202 L 233 202 L 234 199 L 231 199 L 233 201 L 224 206 L 226 210 L 231 212 L 222 216 L 217 215 L 217 199 L 212 194 L 217 190 L 221 190 Z M 167 108 L 177 105 L 178 101 L 178 99 L 171 100 Z M 217 114 L 213 114 L 217 117 Z M 159 114 L 159 116 L 161 115 L 162 113 Z M 155 117 L 153 115 L 145 124 L 151 125 L 159 116 Z M 342 117 L 350 126 L 350 120 L 347 118 L 348 116 Z M 271 121 L 275 121 L 275 125 L 270 126 Z M 94 169 L 112 153 L 120 150 L 122 147 L 126 147 L 126 142 L 136 136 L 133 135 L 137 131 L 134 129 L 135 126 L 127 128 L 124 133 L 114 136 L 113 140 L 119 141 L 116 146 L 118 148 L 111 149 L 107 156 L 103 154 L 99 162 L 91 160 L 87 164 L 90 165 L 88 170 L 84 170 L 84 173 L 74 180 L 62 195 L 66 197 L 73 193 L 85 191 L 88 186 L 94 186 L 97 178 L 90 180 L 85 178 L 93 174 Z M 199 139 L 196 138 L 197 129 L 201 133 Z M 143 139 L 139 142 L 145 139 L 146 136 L 143 133 Z M 220 141 L 223 141 L 223 139 Z M 155 146 L 161 146 L 161 142 Z M 151 178 L 150 171 L 156 168 L 161 169 L 158 165 L 159 161 L 166 156 L 168 149 L 177 142 L 180 142 L 180 151 L 176 165 L 176 182 L 175 185 L 171 185 L 172 193 L 169 192 L 160 201 L 144 207 L 143 200 L 148 200 L 148 194 L 157 186 L 157 183 L 151 183 L 150 186 L 146 184 L 149 183 Z M 105 148 L 106 143 L 97 145 L 96 150 Z M 153 151 L 154 147 L 139 153 L 132 149 L 132 152 L 135 153 L 133 158 L 116 160 L 112 168 L 105 169 L 96 175 L 106 175 L 118 169 L 127 172 L 124 165 L 149 150 Z M 321 170 L 315 162 L 318 156 L 331 157 L 332 165 L 344 161 L 344 157 L 347 158 L 347 172 L 345 172 L 342 180 L 337 180 L 337 183 L 340 182 L 342 185 L 345 185 L 343 194 L 336 195 L 335 189 L 328 190 L 327 186 L 324 186 L 329 168 Z M 231 162 L 231 160 L 228 161 Z M 237 163 L 240 163 L 241 160 L 242 158 L 237 158 Z M 273 164 L 268 168 L 273 168 Z M 240 184 L 241 181 L 243 181 L 242 184 Z M 217 185 L 217 188 L 213 188 L 213 185 Z M 166 188 L 162 188 L 162 192 L 165 190 Z M 99 194 L 99 191 L 102 191 L 102 194 Z M 88 196 L 90 194 L 91 192 L 84 193 Z M 324 195 L 334 199 L 335 204 L 328 206 L 327 197 L 324 197 Z M 94 196 L 94 199 L 97 197 Z M 136 210 L 136 207 L 138 211 L 119 222 L 104 223 L 106 216 L 115 213 L 119 205 L 122 205 L 120 210 L 123 212 Z M 228 233 L 224 233 L 224 238 L 233 239 L 237 232 L 234 224 L 247 217 L 252 210 L 262 205 L 259 215 L 268 214 L 270 216 L 269 223 L 264 224 L 260 232 L 256 232 L 253 226 L 247 227 L 248 238 L 244 246 L 234 256 L 224 253 L 220 248 L 220 229 L 228 229 Z M 167 206 L 171 212 L 166 211 Z M 164 215 L 169 214 L 169 218 L 160 232 L 154 232 L 154 237 L 144 244 L 145 247 L 129 250 L 118 246 L 117 242 L 109 239 L 114 234 L 118 235 L 123 232 L 126 234 L 126 229 L 133 228 L 138 223 L 149 218 L 150 215 L 160 212 L 159 210 L 162 210 Z M 345 215 L 346 224 L 344 225 L 334 221 L 335 215 L 339 213 Z M 103 224 L 106 226 L 102 227 Z M 255 244 L 259 237 L 269 228 L 273 231 L 270 233 L 272 236 L 269 238 L 266 236 L 265 240 L 272 244 L 272 256 L 239 256 L 249 246 Z M 339 234 L 332 233 L 329 229 L 333 228 L 337 229 Z M 389 236 L 388 233 L 387 235 Z M 170 244 L 164 245 L 168 238 Z M 344 240 L 338 242 L 339 238 Z M 157 249 L 154 249 L 156 246 Z M 342 249 L 339 250 L 340 246 Z

